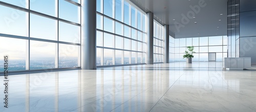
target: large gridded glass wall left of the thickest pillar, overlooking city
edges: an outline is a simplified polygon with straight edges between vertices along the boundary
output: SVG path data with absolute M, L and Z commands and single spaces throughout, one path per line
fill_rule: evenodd
M 80 67 L 80 1 L 1 0 L 0 10 L 9 71 Z

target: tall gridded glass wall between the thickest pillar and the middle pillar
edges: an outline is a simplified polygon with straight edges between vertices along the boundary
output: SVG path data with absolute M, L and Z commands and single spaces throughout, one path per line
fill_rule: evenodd
M 97 66 L 145 63 L 145 13 L 125 0 L 97 0 Z

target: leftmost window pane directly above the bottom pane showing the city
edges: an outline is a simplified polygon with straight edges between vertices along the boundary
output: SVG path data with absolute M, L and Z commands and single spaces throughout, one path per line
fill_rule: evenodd
M 10 1 L 10 3 L 13 2 Z M 2 5 L 0 5 L 0 10 L 0 33 L 18 36 L 28 36 L 27 12 L 19 11 Z

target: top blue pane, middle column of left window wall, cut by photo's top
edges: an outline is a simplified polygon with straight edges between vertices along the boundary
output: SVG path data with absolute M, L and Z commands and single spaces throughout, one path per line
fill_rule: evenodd
M 36 1 L 30 2 L 30 10 L 34 10 L 40 13 L 48 14 L 57 17 L 57 7 L 55 7 L 55 1 Z

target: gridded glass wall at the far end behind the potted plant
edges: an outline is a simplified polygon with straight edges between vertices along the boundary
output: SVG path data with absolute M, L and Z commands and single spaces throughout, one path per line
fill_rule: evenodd
M 177 39 L 170 37 L 170 62 L 186 61 L 183 55 L 188 46 L 194 46 L 196 52 L 192 61 L 208 61 L 208 53 L 216 53 L 216 61 L 222 61 L 223 57 L 227 57 L 227 36 Z

